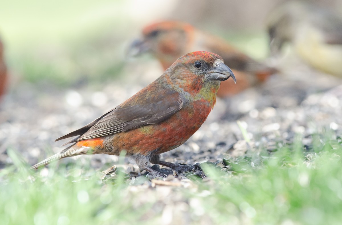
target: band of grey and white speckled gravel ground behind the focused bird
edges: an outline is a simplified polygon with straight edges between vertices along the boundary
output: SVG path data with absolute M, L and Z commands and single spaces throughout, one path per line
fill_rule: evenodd
M 89 123 L 143 88 L 146 80 L 153 80 L 144 76 L 133 85 L 124 79 L 102 88 L 82 85 L 64 89 L 43 82 L 18 84 L 1 103 L 0 168 L 12 163 L 6 154 L 8 148 L 21 153 L 29 164 L 61 151 L 63 142 L 55 143 L 56 138 Z M 292 142 L 296 133 L 303 134 L 308 146 L 310 135 L 323 128 L 330 127 L 340 134 L 340 84 L 340 79 L 306 67 L 275 75 L 260 87 L 219 99 L 202 127 L 184 145 L 162 157 L 169 162 L 218 164 L 222 158 L 244 155 L 248 148 L 272 150 L 278 143 Z M 237 120 L 247 129 L 250 144 L 244 140 Z M 91 165 L 99 169 L 105 163 L 118 162 L 116 156 L 96 155 L 90 159 Z M 139 168 L 126 162 L 126 172 L 140 175 Z

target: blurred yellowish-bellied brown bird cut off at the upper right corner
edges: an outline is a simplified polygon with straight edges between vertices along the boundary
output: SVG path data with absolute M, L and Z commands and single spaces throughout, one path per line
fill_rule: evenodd
M 312 67 L 342 76 L 342 17 L 309 1 L 289 1 L 268 16 L 271 54 L 290 43 Z

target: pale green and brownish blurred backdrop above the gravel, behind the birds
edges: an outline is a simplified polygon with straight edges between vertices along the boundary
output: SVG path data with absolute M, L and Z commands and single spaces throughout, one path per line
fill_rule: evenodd
M 266 17 L 284 2 L 4 1 L 0 3 L 0 35 L 12 86 L 22 80 L 101 82 L 120 77 L 130 41 L 144 26 L 165 19 L 189 22 L 255 58 L 265 58 Z M 342 13 L 341 0 L 309 2 Z

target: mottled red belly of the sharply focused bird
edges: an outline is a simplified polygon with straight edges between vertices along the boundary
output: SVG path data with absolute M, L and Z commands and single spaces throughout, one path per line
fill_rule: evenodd
M 161 123 L 106 138 L 102 151 L 111 155 L 119 155 L 121 150 L 130 155 L 164 153 L 188 140 L 207 119 L 210 111 L 211 107 L 206 104 L 194 104 L 192 109 L 183 108 Z M 108 149 L 111 149 L 109 153 Z

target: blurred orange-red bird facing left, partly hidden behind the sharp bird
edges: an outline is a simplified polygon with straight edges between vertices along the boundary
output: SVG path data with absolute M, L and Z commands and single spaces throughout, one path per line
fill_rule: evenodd
M 277 70 L 255 61 L 240 52 L 226 41 L 206 34 L 192 25 L 182 22 L 166 21 L 145 27 L 142 40 L 135 40 L 129 55 L 151 53 L 166 69 L 180 56 L 191 51 L 209 51 L 220 55 L 233 70 L 238 82 L 232 80 L 221 83 L 218 96 L 234 95 L 251 86 L 265 81 Z

